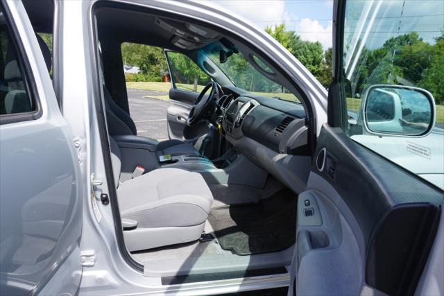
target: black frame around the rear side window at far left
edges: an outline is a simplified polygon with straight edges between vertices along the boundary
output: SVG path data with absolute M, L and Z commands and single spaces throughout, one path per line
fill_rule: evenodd
M 28 94 L 28 98 L 31 101 L 30 112 L 19 112 L 13 114 L 1 114 L 0 115 L 0 125 L 8 123 L 17 123 L 22 121 L 32 121 L 39 119 L 42 116 L 42 105 L 40 104 L 40 97 L 36 91 L 35 80 L 33 79 L 33 69 L 29 63 L 28 56 L 26 55 L 26 50 L 22 43 L 22 39 L 18 33 L 17 26 L 11 15 L 11 12 L 7 5 L 2 1 L 0 3 L 1 10 L 3 11 L 3 16 L 6 21 L 6 27 L 8 28 L 8 34 L 10 35 L 10 41 L 15 46 L 17 64 L 19 66 L 20 72 L 23 77 L 25 91 Z M 28 17 L 26 15 L 26 17 Z

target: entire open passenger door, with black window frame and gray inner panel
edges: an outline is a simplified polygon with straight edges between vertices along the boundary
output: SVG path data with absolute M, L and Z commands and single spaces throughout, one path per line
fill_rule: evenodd
M 353 126 L 356 121 L 350 120 L 348 112 L 348 105 L 359 102 L 358 96 L 350 95 L 357 94 L 359 79 L 355 78 L 362 78 L 362 71 L 370 71 L 370 66 L 362 62 L 369 55 L 363 53 L 370 53 L 378 44 L 389 45 L 384 40 L 377 43 L 375 34 L 384 33 L 382 29 L 387 28 L 381 21 L 395 19 L 399 23 L 403 21 L 403 11 L 409 8 L 402 1 L 395 7 L 387 2 L 334 3 L 334 78 L 328 96 L 328 123 L 317 139 L 307 191 L 298 197 L 289 295 L 413 295 L 429 254 L 440 258 L 430 250 L 433 244 L 434 250 L 440 250 L 440 244 L 441 251 L 443 247 L 443 225 L 441 234 L 436 236 L 442 189 L 377 150 L 378 145 L 393 145 L 391 149 L 403 153 L 403 157 L 416 157 L 407 143 L 418 147 L 413 142 L 428 141 L 433 131 L 425 130 L 415 136 L 381 132 L 371 135 L 368 125 Z M 350 19 L 346 20 L 346 16 Z M 394 41 L 393 47 L 399 49 L 398 26 L 390 28 L 395 31 L 386 40 Z M 393 60 L 393 47 L 377 67 Z M 387 73 L 387 80 L 377 82 L 400 84 L 402 79 L 389 80 L 391 77 L 393 73 Z M 434 102 L 429 103 L 433 125 Z M 358 112 L 363 110 L 361 106 Z M 375 140 L 374 146 L 352 137 L 366 131 L 372 137 L 369 139 Z M 393 143 L 401 140 L 406 146 L 395 147 Z M 435 236 L 441 237 L 441 241 L 435 240 Z M 441 266 L 442 258 L 441 252 Z M 441 285 L 442 289 L 440 280 L 436 287 Z M 421 279 L 421 286 L 424 282 Z M 437 290 L 434 293 L 440 294 Z

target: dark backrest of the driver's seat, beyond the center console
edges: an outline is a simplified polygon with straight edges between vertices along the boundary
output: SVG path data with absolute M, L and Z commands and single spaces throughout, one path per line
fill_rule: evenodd
M 106 122 L 108 123 L 109 134 L 112 136 L 118 134 L 137 135 L 133 119 L 112 100 L 112 96 L 105 85 L 103 85 L 103 96 L 105 97 Z

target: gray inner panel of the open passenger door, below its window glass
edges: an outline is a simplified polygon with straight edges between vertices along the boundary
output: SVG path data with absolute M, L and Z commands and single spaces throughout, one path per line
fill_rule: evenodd
M 315 157 L 307 191 L 300 194 L 292 288 L 300 295 L 355 295 L 364 286 L 413 294 L 443 192 L 339 128 L 323 126 L 315 155 L 323 148 L 325 157 L 319 162 Z M 307 217 L 307 208 L 321 217 L 321 225 Z

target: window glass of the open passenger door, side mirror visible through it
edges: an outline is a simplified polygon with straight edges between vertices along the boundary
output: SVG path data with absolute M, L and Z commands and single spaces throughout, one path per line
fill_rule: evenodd
M 347 1 L 343 42 L 346 132 L 444 187 L 444 1 Z

